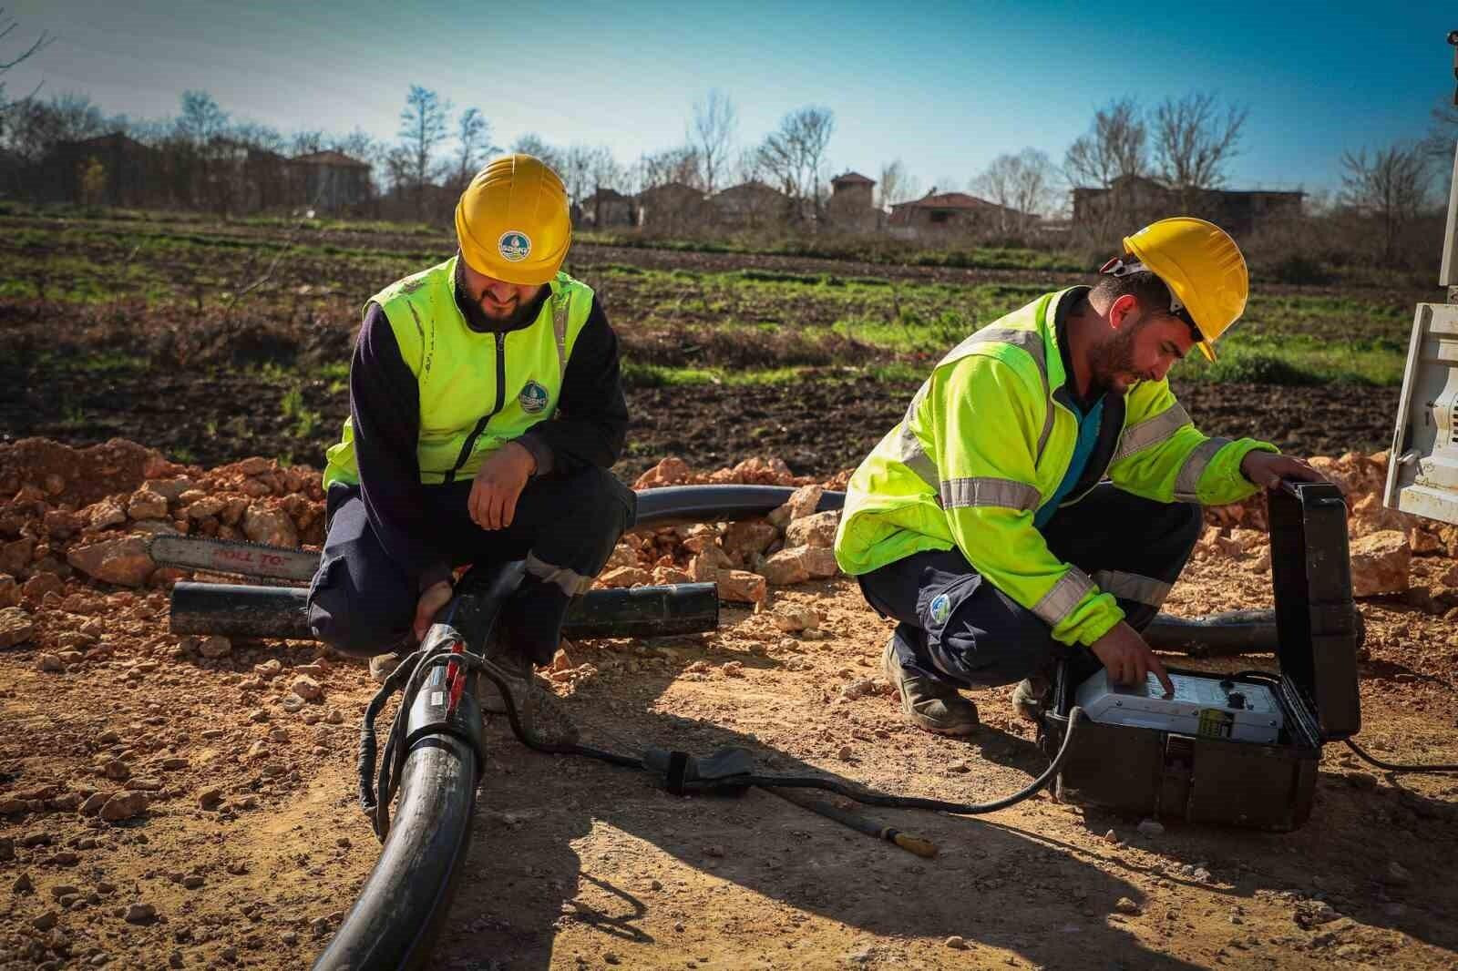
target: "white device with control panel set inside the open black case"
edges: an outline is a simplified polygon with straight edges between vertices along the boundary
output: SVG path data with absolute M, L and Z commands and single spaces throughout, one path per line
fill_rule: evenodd
M 1102 725 L 1147 728 L 1235 742 L 1276 742 L 1286 723 L 1276 695 L 1263 684 L 1172 674 L 1175 697 L 1166 698 L 1155 675 L 1143 685 L 1110 685 L 1099 671 L 1079 685 L 1075 701 Z

